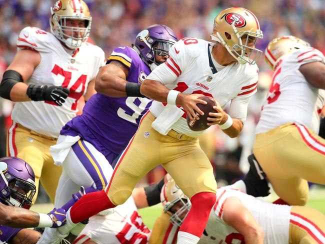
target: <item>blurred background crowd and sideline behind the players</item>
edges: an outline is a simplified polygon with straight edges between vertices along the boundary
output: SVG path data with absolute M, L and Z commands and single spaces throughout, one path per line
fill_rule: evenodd
M 55 0 L 0 0 L 0 77 L 16 52 L 16 39 L 25 26 L 49 31 L 49 9 Z M 171 27 L 178 38 L 195 36 L 208 40 L 214 17 L 224 8 L 242 6 L 259 19 L 264 34 L 256 47 L 264 50 L 274 37 L 295 35 L 325 54 L 325 0 L 85 0 L 91 16 L 91 39 L 106 56 L 118 45 L 130 45 L 143 28 L 160 23 Z M 271 80 L 262 56 L 258 61 L 259 86 L 249 103 L 244 130 L 230 139 L 211 127 L 201 146 L 215 167 L 220 183 L 230 183 L 248 169 L 254 127 Z M 5 155 L 5 136 L 10 125 L 12 102 L 0 98 L 0 157 Z M 153 182 L 160 171 L 148 179 Z

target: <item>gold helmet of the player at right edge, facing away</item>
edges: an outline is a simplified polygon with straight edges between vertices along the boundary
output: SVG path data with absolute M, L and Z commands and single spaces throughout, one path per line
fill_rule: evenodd
M 265 49 L 265 61 L 271 69 L 274 69 L 281 57 L 306 46 L 310 46 L 310 44 L 293 35 L 274 38 Z

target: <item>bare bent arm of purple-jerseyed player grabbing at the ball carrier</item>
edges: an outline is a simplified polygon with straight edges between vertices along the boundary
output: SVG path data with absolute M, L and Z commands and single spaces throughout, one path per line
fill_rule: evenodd
M 125 86 L 126 83 L 131 82 L 126 81 L 127 75 L 128 67 L 120 61 L 112 60 L 99 69 L 95 81 L 95 90 L 112 97 L 128 96 Z M 132 84 L 137 85 L 137 83 Z

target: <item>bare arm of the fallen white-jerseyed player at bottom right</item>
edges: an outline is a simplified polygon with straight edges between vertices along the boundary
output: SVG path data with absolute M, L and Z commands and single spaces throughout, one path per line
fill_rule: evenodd
M 263 243 L 263 230 L 238 197 L 231 196 L 224 201 L 223 220 L 244 236 L 246 244 Z

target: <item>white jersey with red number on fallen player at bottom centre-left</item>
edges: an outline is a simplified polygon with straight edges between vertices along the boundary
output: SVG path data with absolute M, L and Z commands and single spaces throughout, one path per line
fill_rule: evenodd
M 73 243 L 81 244 L 91 238 L 98 244 L 145 244 L 150 233 L 131 196 L 123 204 L 116 206 L 113 213 L 90 217 L 89 223 Z

